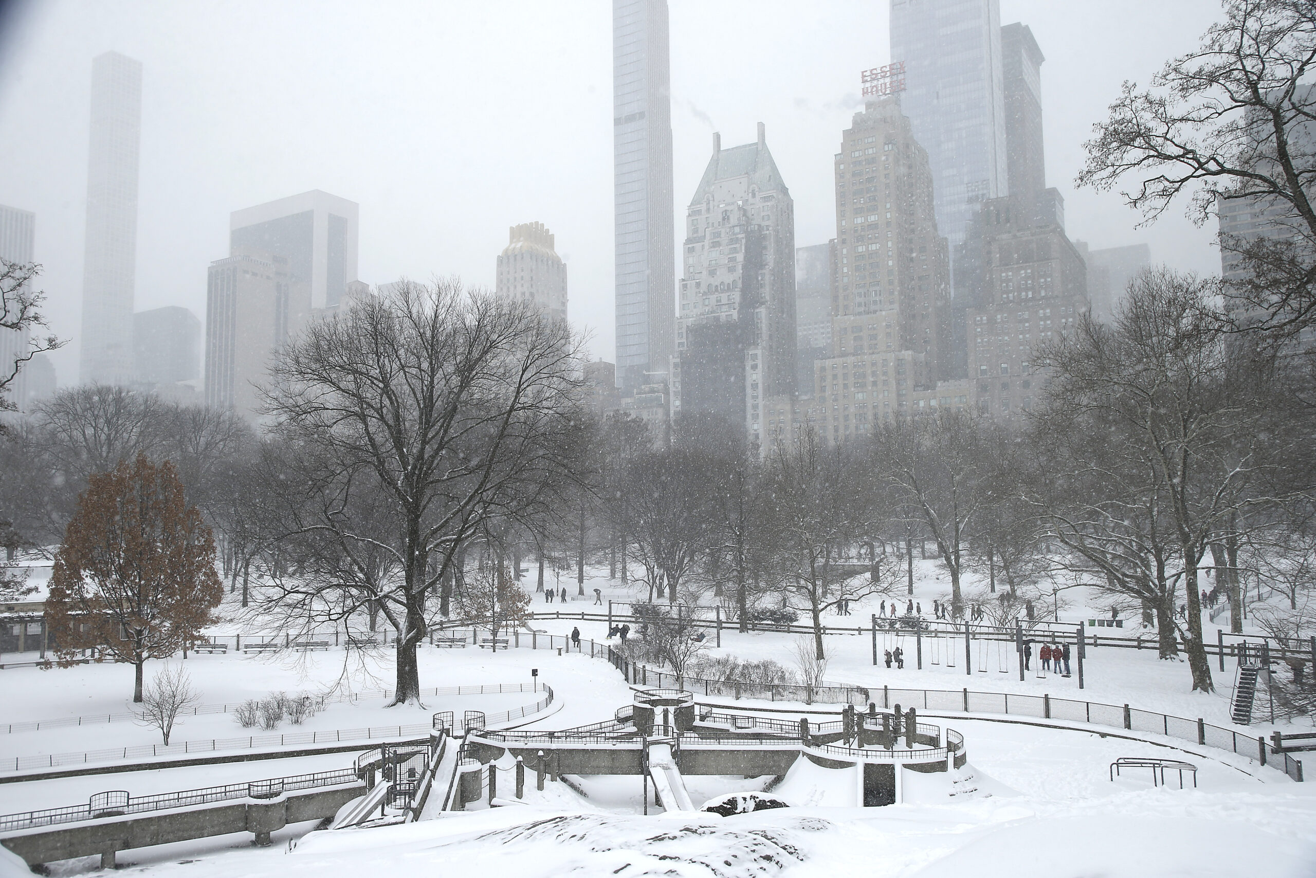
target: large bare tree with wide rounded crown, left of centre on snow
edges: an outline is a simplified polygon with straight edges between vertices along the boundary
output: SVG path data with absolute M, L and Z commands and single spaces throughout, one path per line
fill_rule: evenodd
M 330 463 L 320 511 L 290 537 L 392 555 L 368 600 L 399 632 L 395 703 L 418 698 L 426 599 L 461 573 L 463 544 L 491 519 L 529 521 L 572 475 L 578 365 L 565 323 L 447 280 L 313 323 L 271 369 L 268 413 Z M 380 498 L 365 530 L 338 513 L 358 491 Z

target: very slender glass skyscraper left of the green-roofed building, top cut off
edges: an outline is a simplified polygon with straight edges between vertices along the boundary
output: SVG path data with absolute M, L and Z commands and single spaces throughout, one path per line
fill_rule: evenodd
M 617 386 L 666 373 L 674 351 L 667 1 L 612 0 Z

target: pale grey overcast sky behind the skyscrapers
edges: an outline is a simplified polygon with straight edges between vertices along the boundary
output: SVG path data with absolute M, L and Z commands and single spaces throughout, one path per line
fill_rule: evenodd
M 0 204 L 37 215 L 61 384 L 80 326 L 91 59 L 143 63 L 137 308 L 205 315 L 229 212 L 312 188 L 361 204 L 361 279 L 492 284 L 508 226 L 538 220 L 570 313 L 612 359 L 609 0 L 41 0 L 0 17 Z M 1219 274 L 1182 209 L 1149 229 L 1074 191 L 1082 143 L 1125 79 L 1196 45 L 1212 0 L 1000 0 L 1046 55 L 1048 183 L 1071 238 L 1145 241 Z M 670 0 L 678 220 L 711 151 L 767 125 L 800 246 L 833 237 L 832 155 L 859 71 L 890 61 L 887 0 Z M 679 224 L 678 224 L 679 228 Z

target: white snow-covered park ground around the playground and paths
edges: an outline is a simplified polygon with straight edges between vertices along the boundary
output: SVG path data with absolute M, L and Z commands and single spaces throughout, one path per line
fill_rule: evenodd
M 563 582 L 572 596 L 566 606 L 537 602 L 536 609 L 596 611 L 592 588 L 604 600 L 629 600 L 630 590 L 605 577 L 586 583 L 587 596 L 575 598 L 575 583 Z M 920 562 L 916 600 L 930 607 L 945 583 L 932 562 Z M 529 579 L 533 588 L 533 579 Z M 1069 592 L 1074 596 L 1074 591 Z M 871 604 L 871 606 L 870 606 Z M 876 599 L 855 604 L 851 619 L 862 624 Z M 1070 611 L 1073 621 L 1088 609 Z M 1062 617 L 1067 613 L 1062 611 Z M 830 616 L 829 624 L 842 621 Z M 579 627 L 584 637 L 604 640 L 601 623 L 540 620 L 540 629 L 565 634 Z M 794 636 L 722 633 L 722 652 L 741 658 L 774 658 L 790 665 Z M 1232 667 L 1217 675 L 1219 692 L 1190 692 L 1182 662 L 1157 661 L 1154 650 L 1090 649 L 1087 687 L 1076 677 L 1036 673 L 1020 682 L 1013 656 L 1008 673 L 988 648 L 984 673 L 965 674 L 963 644 L 957 641 L 957 666 L 946 663 L 950 644 L 936 650 L 925 642 L 924 670 L 913 667 L 909 638 L 903 644 L 905 670 L 871 663 L 869 634 L 832 636 L 828 679 L 869 687 L 969 687 L 1078 698 L 1186 717 L 1202 716 L 1228 725 Z M 879 649 L 886 644 L 879 644 Z M 940 663 L 933 665 L 933 654 Z M 313 653 L 296 659 L 197 656 L 187 659 L 204 703 L 232 703 L 270 691 L 318 691 L 343 670 L 342 652 Z M 424 649 L 421 686 L 521 683 L 530 669 L 553 686 L 555 703 L 526 728 L 557 729 L 612 716 L 629 702 L 629 690 L 607 662 L 588 656 L 558 656 L 555 650 L 515 649 L 491 654 L 474 648 Z M 979 662 L 978 646 L 974 661 Z M 363 673 L 362 673 L 363 671 Z M 147 670 L 147 675 L 153 671 Z M 132 670 L 124 665 L 78 666 L 67 670 L 5 669 L 0 671 L 0 704 L 12 721 L 88 716 L 128 708 Z M 392 687 L 388 653 L 351 669 L 357 690 Z M 437 710 L 497 711 L 530 703 L 530 694 L 442 696 L 424 708 L 386 708 L 382 699 L 332 706 L 313 723 L 324 728 L 428 721 Z M 775 707 L 784 707 L 776 704 Z M 667 874 L 721 875 L 892 875 L 901 878 L 1080 878 L 1103 875 L 1183 875 L 1212 878 L 1245 874 L 1266 878 L 1316 875 L 1316 783 L 1292 783 L 1279 771 L 1261 769 L 1246 758 L 1207 748 L 1166 749 L 1154 741 L 1123 740 L 1087 729 L 1053 729 L 1004 724 L 983 717 L 933 717 L 965 736 L 969 765 L 953 775 L 905 775 L 903 804 L 857 808 L 853 773 L 797 763 L 770 795 L 792 807 L 732 817 L 711 813 L 641 816 L 638 777 L 579 778 L 590 798 L 563 783 L 549 783 L 540 794 L 528 785 L 528 804 L 449 813 L 403 827 L 313 832 L 311 824 L 290 827 L 271 848 L 253 848 L 250 836 L 225 836 L 196 842 L 125 852 L 124 871 L 178 874 L 186 878 L 278 875 L 278 878 L 336 878 L 337 875 L 432 874 L 515 875 L 561 878 L 582 875 Z M 321 725 L 291 727 L 311 731 Z M 1265 727 L 1250 727 L 1253 736 Z M 184 717 L 176 740 L 240 735 L 229 715 Z M 0 754 L 108 746 L 107 741 L 153 742 L 158 732 L 132 723 L 83 725 L 0 736 Z M 8 738 L 8 740 L 7 740 Z M 1169 740 L 1163 741 L 1170 744 Z M 1182 742 L 1179 742 L 1182 744 Z M 1119 757 L 1158 756 L 1199 766 L 1198 788 L 1179 790 L 1174 773 L 1169 788 L 1153 788 L 1149 770 L 1134 770 L 1115 782 L 1109 763 Z M 12 812 L 84 802 L 101 790 L 134 795 L 254 781 L 283 774 L 349 766 L 354 753 L 297 760 L 234 762 L 217 766 L 88 775 L 57 781 L 0 785 L 0 800 Z M 1316 762 L 1316 761 L 1313 761 Z M 695 804 L 713 796 L 761 790 L 769 778 L 686 778 Z M 1191 782 L 1190 782 L 1191 783 Z M 499 786 L 503 794 L 509 794 Z M 650 806 L 653 811 L 653 806 Z M 290 849 L 288 840 L 300 839 Z M 95 860 L 55 866 L 54 874 L 89 870 Z M 3 874 L 3 870 L 0 870 Z M 8 877 L 7 877 L 8 878 Z

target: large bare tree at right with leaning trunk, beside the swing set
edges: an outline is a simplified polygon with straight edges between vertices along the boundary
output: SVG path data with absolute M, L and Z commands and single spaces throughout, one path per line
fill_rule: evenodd
M 1113 326 L 1088 315 L 1036 351 L 1051 375 L 1042 417 L 1065 430 L 1046 442 L 1062 454 L 1053 471 L 1086 474 L 1087 499 L 1053 509 L 1050 536 L 1117 590 L 1152 590 L 1162 640 L 1173 620 L 1202 691 L 1212 681 L 1198 567 L 1212 537 L 1240 511 L 1311 484 L 1290 448 L 1305 430 L 1273 396 L 1274 362 L 1219 332 L 1204 316 L 1209 295 L 1195 278 L 1145 272 Z

